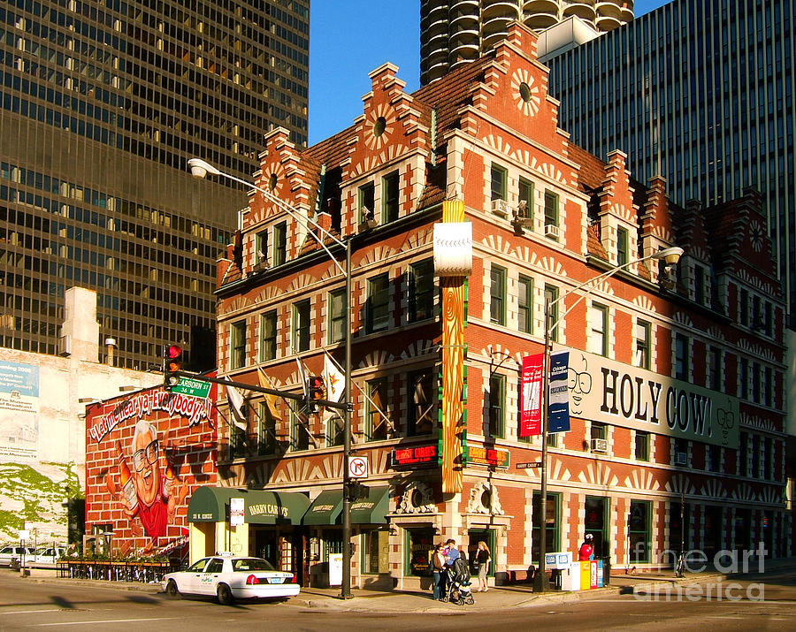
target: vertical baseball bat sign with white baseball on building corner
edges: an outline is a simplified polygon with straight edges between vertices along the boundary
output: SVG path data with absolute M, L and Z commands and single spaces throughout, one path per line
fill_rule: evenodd
M 466 442 L 464 293 L 472 271 L 472 225 L 464 222 L 461 200 L 442 202 L 442 223 L 434 225 L 434 271 L 442 293 L 442 491 L 461 493 Z

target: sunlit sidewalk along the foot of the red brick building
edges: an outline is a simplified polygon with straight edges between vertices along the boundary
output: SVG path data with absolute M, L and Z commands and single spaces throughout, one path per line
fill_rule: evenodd
M 796 564 L 796 561 L 792 560 L 792 564 Z M 716 571 L 705 571 L 703 573 L 688 574 L 683 579 L 677 579 L 671 571 L 624 575 L 624 569 L 614 569 L 610 585 L 604 588 L 577 592 L 551 590 L 544 594 L 534 595 L 530 584 L 517 583 L 493 587 L 487 592 L 474 592 L 475 604 L 473 605 L 455 605 L 434 601 L 431 591 L 384 592 L 355 588 L 351 590 L 352 598 L 341 599 L 339 598 L 340 588 L 302 588 L 296 597 L 290 598 L 286 602 L 286 605 L 328 611 L 379 613 L 444 613 L 467 609 L 497 611 L 507 608 L 532 607 L 545 603 L 555 604 L 591 598 L 605 598 L 608 595 L 631 594 L 633 590 L 648 590 L 654 584 L 693 583 L 722 576 L 721 573 Z M 137 590 L 151 594 L 161 591 L 159 583 L 104 582 L 102 580 L 58 578 L 53 575 L 52 571 L 44 569 L 32 569 L 31 575 L 29 577 L 20 577 L 20 581 L 49 584 L 72 583 L 100 590 Z

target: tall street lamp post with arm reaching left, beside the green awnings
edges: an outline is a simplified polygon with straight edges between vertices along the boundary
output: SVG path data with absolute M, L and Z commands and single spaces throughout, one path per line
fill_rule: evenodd
M 293 217 L 295 221 L 301 222 L 303 225 L 307 226 L 308 228 L 310 225 L 318 228 L 322 233 L 322 236 L 318 237 L 314 232 L 310 230 L 310 235 L 318 241 L 320 247 L 325 250 L 325 253 L 329 255 L 332 259 L 337 269 L 341 271 L 343 276 L 346 278 L 346 318 L 345 318 L 345 362 L 344 362 L 344 372 L 345 372 L 345 409 L 343 412 L 343 506 L 342 506 L 342 555 L 343 555 L 343 567 L 342 567 L 342 580 L 341 580 L 341 592 L 340 598 L 342 599 L 350 599 L 351 595 L 351 480 L 348 476 L 348 461 L 351 455 L 351 411 L 352 411 L 352 404 L 351 404 L 351 289 L 352 289 L 352 282 L 351 282 L 351 238 L 349 237 L 347 240 L 342 241 L 335 237 L 331 232 L 328 232 L 323 226 L 319 225 L 317 222 L 314 222 L 309 217 L 302 217 L 299 212 L 294 209 L 292 206 L 287 204 L 287 202 L 283 202 L 280 200 L 276 195 L 272 194 L 270 191 L 262 187 L 257 187 L 255 184 L 251 182 L 247 182 L 244 179 L 237 178 L 229 173 L 224 173 L 223 171 L 219 171 L 213 165 L 203 161 L 201 158 L 191 158 L 188 160 L 188 166 L 191 170 L 191 175 L 195 178 L 203 179 L 208 173 L 214 176 L 220 176 L 222 178 L 233 180 L 234 182 L 238 182 L 246 187 L 251 187 L 258 191 L 259 193 L 264 195 L 264 198 L 276 206 L 279 209 L 284 210 L 290 217 Z M 332 255 L 329 248 L 326 247 L 324 243 L 324 237 L 332 240 L 333 243 L 337 246 L 345 248 L 346 251 L 346 267 L 345 270 L 341 267 L 340 263 L 338 263 L 337 259 Z

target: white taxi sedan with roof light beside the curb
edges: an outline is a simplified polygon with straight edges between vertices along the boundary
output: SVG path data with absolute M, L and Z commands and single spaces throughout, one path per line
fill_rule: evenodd
M 300 589 L 293 573 L 278 571 L 262 558 L 227 554 L 197 560 L 187 570 L 165 575 L 161 584 L 170 597 L 216 597 L 221 604 L 294 597 Z

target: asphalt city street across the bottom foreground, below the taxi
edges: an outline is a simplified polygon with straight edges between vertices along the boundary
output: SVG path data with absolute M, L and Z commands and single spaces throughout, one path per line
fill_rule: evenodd
M 152 627 L 180 631 L 233 627 L 301 630 L 524 629 L 793 629 L 796 628 L 796 571 L 764 576 L 646 583 L 633 594 L 622 577 L 614 586 L 586 595 L 533 598 L 514 587 L 477 595 L 458 606 L 420 594 L 372 593 L 348 602 L 311 590 L 279 603 L 222 606 L 195 599 L 169 599 L 157 587 L 138 590 L 108 583 L 21 578 L 0 570 L 0 629 L 87 628 L 125 630 Z M 721 589 L 718 588 L 721 586 Z M 717 595 L 721 595 L 721 599 Z M 709 595 L 709 598 L 707 597 Z M 751 597 L 751 599 L 749 598 Z M 757 600 L 763 597 L 763 600 Z

